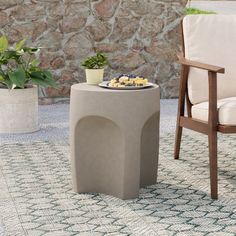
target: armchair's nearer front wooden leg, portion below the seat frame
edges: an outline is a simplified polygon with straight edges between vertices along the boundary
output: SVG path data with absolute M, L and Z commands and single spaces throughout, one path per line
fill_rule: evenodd
M 211 198 L 218 199 L 218 174 L 217 174 L 217 132 L 211 131 L 208 135 Z

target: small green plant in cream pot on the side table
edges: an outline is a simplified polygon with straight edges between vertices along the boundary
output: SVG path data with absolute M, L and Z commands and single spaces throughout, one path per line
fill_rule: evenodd
M 99 84 L 103 81 L 104 68 L 108 65 L 108 59 L 98 52 L 96 55 L 86 58 L 82 62 L 85 68 L 86 80 L 88 84 Z

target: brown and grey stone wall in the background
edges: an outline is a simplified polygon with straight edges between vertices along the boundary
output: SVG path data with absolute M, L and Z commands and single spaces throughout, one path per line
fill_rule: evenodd
M 28 37 L 45 47 L 41 66 L 53 70 L 60 89 L 45 97 L 69 96 L 84 81 L 80 62 L 95 51 L 111 63 L 107 79 L 119 73 L 146 76 L 177 96 L 179 23 L 186 0 L 0 0 L 0 32 L 11 42 Z

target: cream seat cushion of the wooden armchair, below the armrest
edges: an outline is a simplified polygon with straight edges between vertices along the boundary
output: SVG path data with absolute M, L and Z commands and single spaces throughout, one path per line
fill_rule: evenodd
M 192 106 L 192 118 L 207 122 L 208 106 L 208 102 Z M 219 99 L 217 107 L 219 124 L 236 126 L 236 97 Z

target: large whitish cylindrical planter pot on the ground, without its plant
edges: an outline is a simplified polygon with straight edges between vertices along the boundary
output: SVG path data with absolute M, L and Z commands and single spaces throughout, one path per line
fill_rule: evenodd
M 30 133 L 38 129 L 38 88 L 0 89 L 0 133 Z

